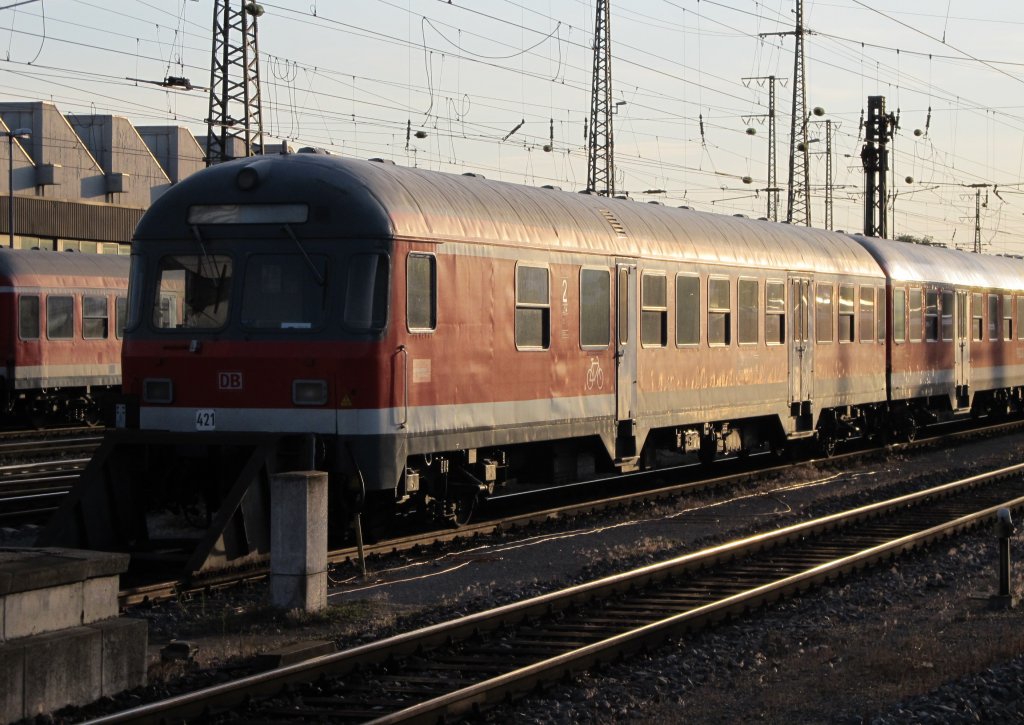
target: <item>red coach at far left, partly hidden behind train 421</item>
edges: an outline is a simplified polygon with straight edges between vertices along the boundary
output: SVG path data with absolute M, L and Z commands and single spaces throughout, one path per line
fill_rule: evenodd
M 98 425 L 120 392 L 127 256 L 0 249 L 0 421 Z

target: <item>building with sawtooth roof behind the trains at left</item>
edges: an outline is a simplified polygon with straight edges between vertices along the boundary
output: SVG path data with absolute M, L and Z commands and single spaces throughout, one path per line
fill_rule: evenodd
M 127 254 L 142 212 L 206 165 L 203 138 L 184 127 L 65 116 L 47 101 L 0 102 L 0 131 L 22 128 L 28 138 L 0 138 L 3 245 L 13 200 L 15 247 Z

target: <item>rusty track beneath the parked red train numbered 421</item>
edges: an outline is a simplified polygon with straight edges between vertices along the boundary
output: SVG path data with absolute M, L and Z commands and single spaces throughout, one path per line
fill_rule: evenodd
M 1013 421 L 1000 423 L 984 428 L 970 428 L 966 430 L 954 429 L 943 433 L 937 433 L 928 437 L 919 438 L 912 442 L 898 443 L 889 446 L 892 452 L 907 452 L 912 450 L 930 449 L 938 445 L 950 444 L 963 441 L 967 438 L 999 435 L 1010 433 L 1024 428 L 1024 421 Z M 877 449 L 857 450 L 836 455 L 828 459 L 829 464 L 842 467 L 845 463 L 852 463 L 864 456 L 878 454 Z M 486 537 L 501 532 L 511 532 L 521 530 L 527 526 L 543 524 L 546 522 L 571 519 L 588 514 L 626 509 L 631 506 L 641 504 L 654 504 L 658 502 L 669 502 L 680 496 L 700 489 L 721 488 L 731 489 L 755 479 L 766 479 L 772 475 L 792 472 L 796 466 L 817 466 L 821 460 L 805 461 L 798 464 L 792 462 L 777 463 L 775 465 L 765 465 L 764 459 L 760 457 L 758 461 L 739 461 L 732 459 L 721 461 L 722 467 L 728 472 L 714 477 L 707 476 L 707 469 L 691 466 L 688 471 L 676 471 L 676 478 L 680 482 L 668 485 L 656 485 L 654 482 L 664 479 L 672 471 L 658 470 L 648 473 L 632 474 L 631 482 L 616 495 L 605 495 L 597 499 L 582 499 L 561 506 L 534 508 L 529 506 L 530 498 L 523 496 L 523 501 L 517 502 L 521 511 L 509 512 L 508 509 L 498 508 L 493 514 L 477 522 L 464 524 L 457 528 L 443 530 L 427 530 L 411 534 L 409 536 L 387 539 L 380 542 L 369 543 L 364 547 L 362 554 L 366 557 L 396 554 L 401 552 L 415 552 L 440 544 L 450 544 L 458 541 L 469 541 L 481 537 Z M 733 464 L 739 464 L 733 467 Z M 617 484 L 622 486 L 622 481 L 627 477 L 620 477 Z M 591 484 L 593 485 L 593 483 Z M 550 491 L 548 492 L 551 493 Z M 592 493 L 596 493 L 593 492 Z M 539 497 L 532 497 L 535 503 Z M 501 504 L 502 498 L 496 499 L 495 503 Z M 357 562 L 359 551 L 355 547 L 345 547 L 336 549 L 328 553 L 328 563 L 332 566 L 341 566 Z M 204 589 L 231 586 L 241 581 L 252 581 L 266 577 L 268 568 L 266 566 L 255 566 L 238 572 L 211 573 L 191 582 L 166 581 L 147 583 L 139 586 L 126 587 L 120 594 L 120 605 L 122 607 L 139 604 L 144 601 L 157 601 L 180 596 L 187 592 L 199 592 Z

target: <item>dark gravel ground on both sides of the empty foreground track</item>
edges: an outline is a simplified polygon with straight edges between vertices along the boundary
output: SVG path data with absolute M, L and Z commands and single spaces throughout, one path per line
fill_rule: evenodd
M 333 572 L 329 611 L 273 612 L 265 585 L 134 607 L 151 625 L 151 684 L 55 714 L 95 717 L 256 669 L 254 655 L 304 639 L 353 646 L 695 551 L 739 536 L 1024 461 L 1024 435 L 955 450 L 823 462 L 742 491 L 371 562 Z M 1024 486 L 1022 486 L 1024 491 Z M 581 674 L 489 711 L 490 723 L 1014 722 L 1024 687 L 1024 608 L 994 611 L 990 531 L 903 557 L 648 654 Z M 1013 540 L 1013 556 L 1024 539 Z M 1015 573 L 1014 591 L 1024 590 Z M 198 646 L 162 662 L 171 640 Z M 961 719 L 956 719 L 961 718 Z

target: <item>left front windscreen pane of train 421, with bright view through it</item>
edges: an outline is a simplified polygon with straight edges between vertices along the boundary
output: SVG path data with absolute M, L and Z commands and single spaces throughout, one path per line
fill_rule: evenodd
M 221 254 L 166 256 L 160 260 L 157 270 L 153 324 L 157 328 L 172 329 L 222 328 L 227 323 L 230 292 L 230 257 Z

